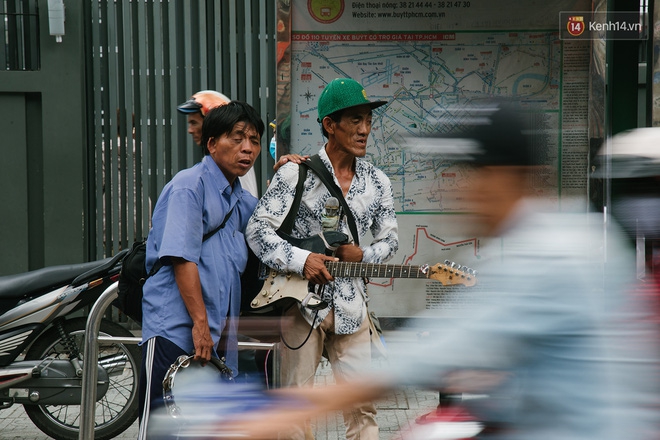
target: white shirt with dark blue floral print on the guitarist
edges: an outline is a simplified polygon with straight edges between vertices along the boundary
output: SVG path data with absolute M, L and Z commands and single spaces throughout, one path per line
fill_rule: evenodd
M 339 187 L 325 147 L 319 156 Z M 293 203 L 298 173 L 298 164 L 291 162 L 278 170 L 248 222 L 246 238 L 254 253 L 266 265 L 281 272 L 302 275 L 310 252 L 292 246 L 276 233 Z M 329 197 L 331 195 L 325 185 L 310 170 L 291 233 L 293 237 L 308 238 L 323 231 L 322 214 Z M 399 239 L 390 179 L 371 163 L 357 158 L 355 176 L 345 199 L 357 223 L 360 248 L 363 251 L 362 262 L 383 263 L 392 258 L 399 247 Z M 350 236 L 343 216 L 338 230 Z M 362 243 L 367 231 L 371 231 L 373 236 L 369 245 Z M 366 316 L 366 284 L 362 278 L 335 277 L 323 289 L 322 297 L 330 306 L 318 313 L 313 323 L 315 327 L 325 319 L 330 308 L 334 308 L 335 333 L 352 334 L 360 328 Z M 304 307 L 301 307 L 301 311 L 307 321 L 312 323 L 315 312 Z

